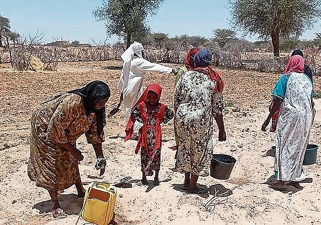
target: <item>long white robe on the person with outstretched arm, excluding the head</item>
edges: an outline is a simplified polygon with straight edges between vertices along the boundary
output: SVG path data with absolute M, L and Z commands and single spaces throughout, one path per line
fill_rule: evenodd
M 143 93 L 144 71 L 170 73 L 172 70 L 170 67 L 151 63 L 148 60 L 138 57 L 123 64 L 119 78 L 119 91 L 123 93 L 126 125 L 132 106 Z M 141 126 L 142 124 L 136 121 L 134 124 L 134 133 L 138 133 Z

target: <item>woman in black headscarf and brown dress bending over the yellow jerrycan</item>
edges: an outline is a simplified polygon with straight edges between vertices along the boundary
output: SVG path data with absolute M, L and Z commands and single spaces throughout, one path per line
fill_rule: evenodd
M 83 160 L 76 140 L 83 134 L 97 157 L 95 168 L 105 172 L 102 145 L 105 103 L 110 97 L 106 83 L 93 81 L 41 103 L 31 118 L 28 176 L 36 186 L 49 191 L 53 216 L 66 217 L 58 202 L 58 191 L 75 184 L 78 197 L 84 197 L 78 164 Z

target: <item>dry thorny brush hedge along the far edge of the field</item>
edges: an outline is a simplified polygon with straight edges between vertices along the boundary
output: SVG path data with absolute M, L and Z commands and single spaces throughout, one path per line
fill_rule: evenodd
M 191 46 L 183 41 L 167 42 L 165 48 L 156 49 L 144 46 L 144 58 L 152 62 L 184 64 L 187 50 Z M 207 42 L 200 48 L 209 49 L 212 53 L 212 64 L 215 67 L 254 70 L 259 72 L 282 72 L 287 58 L 273 57 L 269 52 L 255 52 L 245 44 L 233 44 L 220 48 L 213 42 Z M 15 69 L 30 68 L 30 57 L 38 57 L 49 69 L 55 69 L 58 62 L 105 61 L 120 59 L 124 45 L 113 46 L 103 44 L 97 46 L 46 46 L 39 45 L 34 40 L 15 43 L 10 47 L 11 63 Z M 321 75 L 321 50 L 309 48 L 304 50 L 306 63 L 314 75 Z M 5 49 L 0 49 L 0 63 L 8 62 L 9 56 Z

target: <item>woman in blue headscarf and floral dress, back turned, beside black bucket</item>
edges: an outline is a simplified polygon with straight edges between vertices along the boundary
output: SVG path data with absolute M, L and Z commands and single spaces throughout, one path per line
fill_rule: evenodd
M 174 171 L 185 173 L 184 187 L 197 193 L 199 176 L 208 176 L 213 151 L 213 118 L 219 129 L 219 141 L 226 140 L 223 123 L 224 83 L 210 66 L 208 50 L 194 57 L 194 69 L 180 77 L 175 88 L 175 126 L 179 137 Z

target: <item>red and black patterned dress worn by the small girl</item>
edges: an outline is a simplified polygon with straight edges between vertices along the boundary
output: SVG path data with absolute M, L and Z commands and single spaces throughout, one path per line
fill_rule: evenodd
M 151 176 L 154 171 L 159 171 L 161 168 L 161 148 L 162 148 L 162 135 L 157 135 L 156 132 L 161 131 L 161 123 L 168 123 L 173 117 L 174 112 L 164 104 L 159 104 L 155 109 L 148 111 L 144 102 L 136 105 L 132 110 L 131 114 L 134 119 L 143 124 L 141 129 L 146 129 L 147 149 L 141 147 L 140 159 L 141 159 L 141 171 L 146 176 Z M 140 131 L 143 132 L 143 131 Z M 157 137 L 160 140 L 157 140 Z M 155 149 L 156 142 L 160 142 L 159 148 Z

